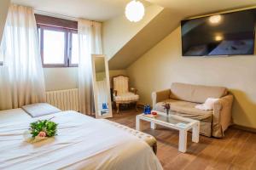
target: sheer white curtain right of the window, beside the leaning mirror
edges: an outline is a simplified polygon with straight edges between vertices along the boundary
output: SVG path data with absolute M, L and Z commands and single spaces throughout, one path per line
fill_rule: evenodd
M 79 20 L 79 111 L 93 115 L 91 54 L 102 54 L 102 24 Z

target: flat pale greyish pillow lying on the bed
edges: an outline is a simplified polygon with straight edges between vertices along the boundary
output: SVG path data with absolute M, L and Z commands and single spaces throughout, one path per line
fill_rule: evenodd
M 61 112 L 58 108 L 47 103 L 37 103 L 32 105 L 24 105 L 21 107 L 26 113 L 32 117 L 44 116 Z

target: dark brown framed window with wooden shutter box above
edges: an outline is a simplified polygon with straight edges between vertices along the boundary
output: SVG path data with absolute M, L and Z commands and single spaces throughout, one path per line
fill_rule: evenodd
M 36 20 L 43 66 L 78 66 L 79 37 L 77 22 L 37 14 Z

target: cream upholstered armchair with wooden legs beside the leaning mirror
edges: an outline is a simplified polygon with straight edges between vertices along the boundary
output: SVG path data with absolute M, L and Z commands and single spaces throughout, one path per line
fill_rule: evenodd
M 136 88 L 129 89 L 129 77 L 119 75 L 113 77 L 113 101 L 119 113 L 119 105 L 135 103 L 137 110 L 137 101 L 139 95 Z

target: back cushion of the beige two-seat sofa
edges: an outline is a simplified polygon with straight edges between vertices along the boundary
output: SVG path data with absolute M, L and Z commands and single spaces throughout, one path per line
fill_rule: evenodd
M 171 86 L 171 99 L 204 103 L 207 98 L 221 98 L 228 94 L 227 88 L 202 86 L 174 82 Z

